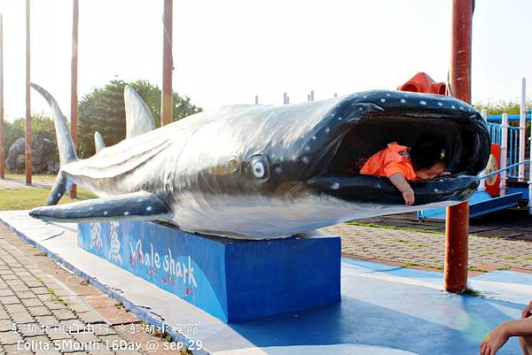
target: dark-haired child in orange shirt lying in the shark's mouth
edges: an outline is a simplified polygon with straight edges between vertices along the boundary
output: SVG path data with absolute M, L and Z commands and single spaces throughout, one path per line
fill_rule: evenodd
M 404 203 L 414 205 L 409 180 L 431 180 L 445 170 L 445 145 L 435 135 L 424 135 L 411 148 L 389 143 L 369 158 L 360 174 L 386 176 L 403 193 Z

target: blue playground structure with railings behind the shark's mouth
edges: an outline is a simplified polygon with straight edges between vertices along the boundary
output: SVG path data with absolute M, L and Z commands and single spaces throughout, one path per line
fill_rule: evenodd
M 516 206 L 521 200 L 528 201 L 528 214 L 532 215 L 532 155 L 526 151 L 526 122 L 532 121 L 526 114 L 526 79 L 522 79 L 520 114 L 489 115 L 486 109 L 481 112 L 489 127 L 491 155 L 489 163 L 481 174 L 481 185 L 470 200 L 470 218 L 489 212 L 496 212 Z M 512 126 L 510 122 L 519 122 Z M 531 125 L 532 127 L 532 125 Z M 528 158 L 528 159 L 527 159 Z M 526 177 L 528 176 L 528 181 Z M 444 220 L 442 209 L 418 212 L 418 218 Z

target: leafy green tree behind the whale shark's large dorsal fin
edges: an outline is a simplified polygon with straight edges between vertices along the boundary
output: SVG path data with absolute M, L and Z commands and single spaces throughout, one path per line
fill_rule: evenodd
M 103 135 L 106 145 L 121 142 L 126 137 L 126 111 L 124 88 L 128 84 L 137 91 L 153 114 L 157 127 L 160 127 L 160 89 L 149 81 L 110 81 L 105 87 L 94 89 L 82 97 L 78 117 L 78 155 L 88 158 L 95 153 L 94 132 Z M 173 120 L 181 120 L 201 108 L 192 104 L 190 98 L 174 96 Z

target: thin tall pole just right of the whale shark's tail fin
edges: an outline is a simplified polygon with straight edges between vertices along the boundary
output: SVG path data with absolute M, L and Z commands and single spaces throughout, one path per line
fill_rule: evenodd
M 74 149 L 77 146 L 77 49 L 78 49 L 78 19 L 79 1 L 74 0 L 72 5 L 72 81 L 70 87 L 70 134 L 74 142 Z M 70 188 L 70 198 L 76 197 L 76 186 Z

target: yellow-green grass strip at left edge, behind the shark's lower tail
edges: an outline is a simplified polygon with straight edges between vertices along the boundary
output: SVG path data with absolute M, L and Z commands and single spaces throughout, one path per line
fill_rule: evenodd
M 42 206 L 50 193 L 50 188 L 30 187 L 20 189 L 0 189 L 0 211 L 6 210 L 28 210 Z M 86 189 L 77 189 L 77 198 L 70 198 L 66 193 L 61 198 L 59 204 L 68 204 L 96 196 Z

